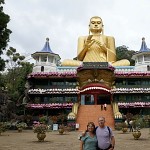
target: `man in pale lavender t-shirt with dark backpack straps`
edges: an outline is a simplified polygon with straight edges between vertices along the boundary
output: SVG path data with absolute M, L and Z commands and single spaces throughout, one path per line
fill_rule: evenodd
M 98 118 L 99 126 L 96 129 L 96 137 L 98 140 L 98 150 L 113 150 L 115 146 L 115 137 L 112 129 L 105 126 L 105 118 Z

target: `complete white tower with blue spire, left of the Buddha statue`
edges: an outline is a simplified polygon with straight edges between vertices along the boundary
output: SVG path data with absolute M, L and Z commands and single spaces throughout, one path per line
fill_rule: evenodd
M 49 38 L 41 51 L 37 51 L 31 55 L 35 60 L 33 72 L 52 72 L 56 71 L 60 63 L 60 56 L 52 52 L 49 45 Z

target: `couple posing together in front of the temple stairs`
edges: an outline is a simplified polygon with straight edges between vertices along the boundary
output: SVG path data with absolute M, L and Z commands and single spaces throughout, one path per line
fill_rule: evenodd
M 98 118 L 99 126 L 89 122 L 87 130 L 81 137 L 80 150 L 113 150 L 115 138 L 112 129 L 105 126 L 105 118 Z

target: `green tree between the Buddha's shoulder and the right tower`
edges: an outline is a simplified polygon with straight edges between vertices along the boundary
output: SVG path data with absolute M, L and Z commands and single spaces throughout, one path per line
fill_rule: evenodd
M 134 53 L 134 50 L 128 50 L 128 47 L 125 45 L 119 46 L 116 48 L 117 61 L 121 59 L 128 59 L 130 61 L 130 65 L 134 66 L 135 61 L 131 59 Z

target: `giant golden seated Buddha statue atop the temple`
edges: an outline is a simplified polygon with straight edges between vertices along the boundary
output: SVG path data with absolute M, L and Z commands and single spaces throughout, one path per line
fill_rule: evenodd
M 103 22 L 98 16 L 90 19 L 89 35 L 78 39 L 77 60 L 64 60 L 62 66 L 79 66 L 82 62 L 109 62 L 112 66 L 129 66 L 126 59 L 116 61 L 115 39 L 103 34 Z

